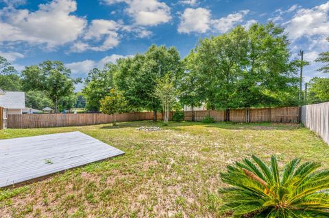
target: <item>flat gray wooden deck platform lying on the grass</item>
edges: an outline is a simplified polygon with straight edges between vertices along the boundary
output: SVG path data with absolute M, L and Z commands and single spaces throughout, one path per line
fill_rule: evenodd
M 84 133 L 0 140 L 0 187 L 124 154 Z

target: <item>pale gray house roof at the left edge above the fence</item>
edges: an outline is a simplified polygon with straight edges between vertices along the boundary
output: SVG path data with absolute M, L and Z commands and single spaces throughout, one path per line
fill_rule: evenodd
M 5 92 L 0 95 L 0 107 L 25 109 L 25 92 Z

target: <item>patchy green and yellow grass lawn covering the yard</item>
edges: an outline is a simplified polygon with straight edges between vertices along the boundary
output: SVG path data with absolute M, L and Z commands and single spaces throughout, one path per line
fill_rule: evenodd
M 280 167 L 300 157 L 329 167 L 329 146 L 297 124 L 153 122 L 7 129 L 0 139 L 81 131 L 125 154 L 17 189 L 0 190 L 0 217 L 230 217 L 219 215 L 219 172 L 256 154 Z M 1 166 L 0 166 L 1 167 Z

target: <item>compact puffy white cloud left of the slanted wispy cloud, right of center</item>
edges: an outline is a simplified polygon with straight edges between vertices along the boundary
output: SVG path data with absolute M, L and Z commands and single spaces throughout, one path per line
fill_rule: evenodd
M 205 33 L 210 25 L 210 11 L 206 8 L 186 8 L 180 16 L 179 33 Z

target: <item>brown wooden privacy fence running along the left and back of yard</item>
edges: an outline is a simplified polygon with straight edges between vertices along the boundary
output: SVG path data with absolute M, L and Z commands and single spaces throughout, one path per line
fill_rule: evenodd
M 247 112 L 249 110 L 249 113 Z M 232 122 L 291 122 L 297 123 L 298 107 L 281 107 L 265 109 L 230 109 L 229 120 Z M 118 122 L 153 120 L 153 112 L 121 113 L 117 115 Z M 207 116 L 215 121 L 224 121 L 225 110 L 194 111 L 194 120 L 201 121 Z M 173 112 L 169 115 L 172 120 Z M 157 113 L 158 120 L 162 120 L 162 113 Z M 8 128 L 45 128 L 59 126 L 84 126 L 93 124 L 107 124 L 113 122 L 114 115 L 102 113 L 66 113 L 66 114 L 23 114 L 8 115 Z M 192 120 L 192 112 L 184 112 L 184 120 Z

